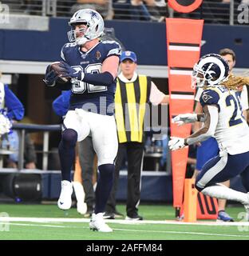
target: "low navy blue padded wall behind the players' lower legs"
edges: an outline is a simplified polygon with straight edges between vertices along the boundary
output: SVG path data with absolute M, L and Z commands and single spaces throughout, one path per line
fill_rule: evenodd
M 73 179 L 73 172 L 71 178 Z M 27 186 L 27 180 L 30 182 L 29 186 Z M 38 184 L 41 186 L 38 186 Z M 41 188 L 41 191 L 38 188 Z M 246 192 L 240 176 L 231 179 L 231 189 Z M 61 172 L 28 170 L 20 174 L 16 170 L 1 170 L 0 199 L 3 193 L 9 199 L 21 198 L 23 201 L 31 202 L 32 196 L 30 197 L 30 195 L 34 196 L 33 200 L 38 200 L 40 192 L 43 200 L 57 200 L 61 192 Z M 27 197 L 29 198 L 28 201 Z M 117 189 L 117 201 L 125 202 L 126 198 L 127 174 L 125 171 L 121 171 Z M 141 181 L 140 202 L 172 203 L 172 201 L 172 176 L 164 172 L 144 171 Z

